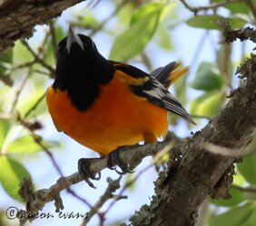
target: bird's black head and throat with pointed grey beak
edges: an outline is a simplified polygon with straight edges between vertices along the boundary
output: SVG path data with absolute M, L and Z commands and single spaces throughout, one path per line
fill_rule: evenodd
M 112 78 L 113 66 L 98 52 L 94 41 L 70 28 L 58 44 L 54 89 L 67 90 L 74 106 L 85 110 Z

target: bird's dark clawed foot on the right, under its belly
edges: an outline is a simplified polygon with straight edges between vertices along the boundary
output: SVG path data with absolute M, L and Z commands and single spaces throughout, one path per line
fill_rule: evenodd
M 138 146 L 138 145 L 135 145 L 135 146 Z M 133 171 L 130 169 L 130 166 L 123 162 L 123 160 L 120 158 L 120 151 L 123 149 L 127 151 L 131 148 L 131 147 L 134 147 L 134 146 L 120 146 L 118 148 L 116 148 L 115 150 L 113 150 L 109 155 L 108 155 L 108 158 L 107 158 L 107 167 L 109 169 L 114 169 L 115 172 L 117 174 L 127 174 L 127 173 L 133 173 Z M 118 166 L 121 171 L 118 171 L 116 169 L 116 166 Z

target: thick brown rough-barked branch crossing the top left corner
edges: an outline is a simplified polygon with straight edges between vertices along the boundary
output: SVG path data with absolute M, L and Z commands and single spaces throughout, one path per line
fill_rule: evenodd
M 64 9 L 83 0 L 15 0 L 0 5 L 0 52 L 20 38 L 31 36 L 37 24 L 60 15 Z

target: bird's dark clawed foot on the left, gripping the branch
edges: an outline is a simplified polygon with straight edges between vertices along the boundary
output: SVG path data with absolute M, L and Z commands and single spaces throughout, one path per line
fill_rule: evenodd
M 98 174 L 94 174 L 90 170 L 90 165 L 92 165 L 94 162 L 99 161 L 100 157 L 97 158 L 80 158 L 78 160 L 78 172 L 82 175 L 84 178 L 84 181 L 89 184 L 90 187 L 96 188 L 94 184 L 91 182 L 91 180 L 99 181 L 101 179 L 101 172 Z

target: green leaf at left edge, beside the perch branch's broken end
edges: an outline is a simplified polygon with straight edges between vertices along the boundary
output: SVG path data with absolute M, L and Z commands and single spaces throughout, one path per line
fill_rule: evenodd
M 22 201 L 18 195 L 19 184 L 27 176 L 30 174 L 19 162 L 6 155 L 0 156 L 0 183 L 15 200 Z

